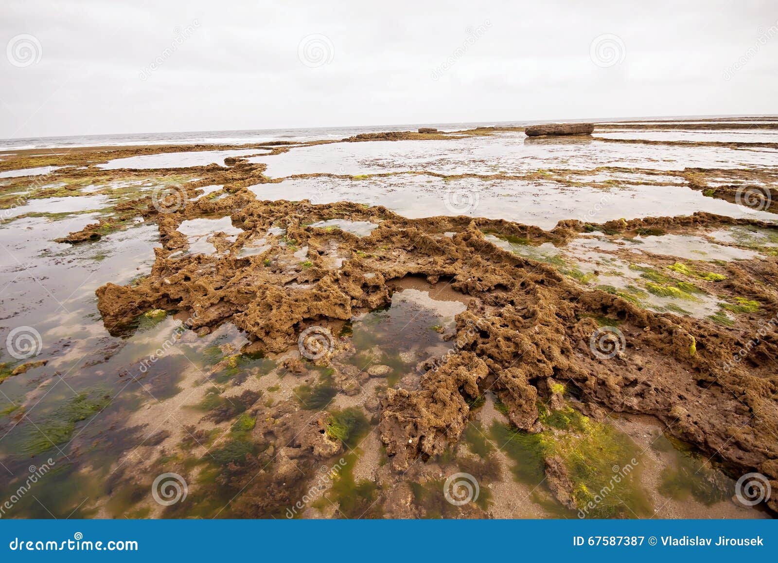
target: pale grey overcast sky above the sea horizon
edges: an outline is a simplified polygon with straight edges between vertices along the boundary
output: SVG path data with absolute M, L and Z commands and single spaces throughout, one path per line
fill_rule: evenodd
M 0 2 L 0 138 L 778 113 L 778 2 Z

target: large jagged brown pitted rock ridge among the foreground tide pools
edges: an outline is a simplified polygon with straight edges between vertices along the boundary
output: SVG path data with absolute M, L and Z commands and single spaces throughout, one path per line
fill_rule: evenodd
M 181 221 L 225 213 L 232 213 L 233 225 L 244 230 L 235 241 L 216 233 L 209 238 L 214 255 L 173 255 L 187 248 L 186 237 L 177 231 Z M 370 221 L 377 228 L 360 238 L 307 224 L 333 217 Z M 645 221 L 618 221 L 609 227 L 639 229 Z M 678 230 L 717 222 L 739 221 L 706 214 L 658 220 L 664 228 Z M 285 233 L 272 234 L 271 227 Z M 164 247 L 156 249 L 148 277 L 135 286 L 108 283 L 97 290 L 98 307 L 112 330 L 150 308 L 184 309 L 193 313 L 193 329 L 229 321 L 254 346 L 281 352 L 307 326 L 335 329 L 358 311 L 387 304 L 391 280 L 450 280 L 451 288 L 471 297 L 468 310 L 457 315 L 454 350 L 429 363 L 432 368 L 418 388 L 387 390 L 380 436 L 397 470 L 457 442 L 469 403 L 486 390 L 502 400 L 517 428 L 537 431 L 537 400 L 548 399 L 553 406 L 553 387 L 564 384 L 574 390 L 582 410 L 653 415 L 669 434 L 735 473 L 759 470 L 778 477 L 774 332 L 752 351 L 748 364 L 725 370 L 748 333 L 657 314 L 587 289 L 548 264 L 497 248 L 483 234 L 496 230 L 564 243 L 584 230 L 579 221 L 564 221 L 546 232 L 468 217 L 408 220 L 382 207 L 347 202 L 260 202 L 239 189 L 218 201 L 198 201 L 160 216 L 159 229 Z M 451 231 L 453 237 L 444 234 Z M 265 252 L 237 257 L 240 248 L 260 238 L 268 244 Z M 746 278 L 775 269 L 770 261 L 762 261 L 764 266 L 746 263 L 751 269 L 742 268 Z M 764 314 L 775 315 L 776 290 L 764 287 L 763 292 Z M 594 317 L 603 316 L 618 321 L 625 343 L 607 359 L 596 356 L 590 343 L 598 329 Z M 335 385 L 349 392 L 359 375 L 333 365 Z M 560 487 L 563 477 L 556 476 Z

